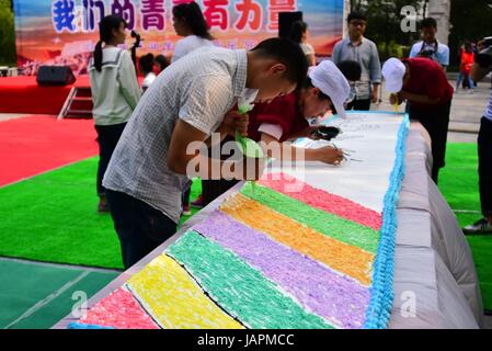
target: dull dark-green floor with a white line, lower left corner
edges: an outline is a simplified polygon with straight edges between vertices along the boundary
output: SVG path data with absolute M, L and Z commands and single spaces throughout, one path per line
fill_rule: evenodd
M 90 298 L 116 276 L 116 272 L 0 260 L 0 329 L 50 328 L 80 302 L 72 299 L 75 292 Z

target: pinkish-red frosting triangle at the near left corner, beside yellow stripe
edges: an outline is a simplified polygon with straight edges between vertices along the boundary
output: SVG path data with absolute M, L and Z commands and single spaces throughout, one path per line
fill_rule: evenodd
M 99 302 L 80 322 L 116 329 L 160 329 L 134 295 L 124 288 Z

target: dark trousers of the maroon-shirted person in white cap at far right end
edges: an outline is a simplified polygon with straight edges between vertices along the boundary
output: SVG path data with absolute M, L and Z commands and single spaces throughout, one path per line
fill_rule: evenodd
M 432 140 L 432 180 L 437 184 L 439 169 L 445 166 L 447 131 L 451 102 L 432 109 L 420 109 L 410 104 L 411 120 L 419 121 L 428 132 Z

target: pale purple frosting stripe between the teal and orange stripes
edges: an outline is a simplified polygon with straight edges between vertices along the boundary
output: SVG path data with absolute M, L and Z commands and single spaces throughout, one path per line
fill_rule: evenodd
M 312 313 L 334 326 L 362 328 L 370 294 L 340 275 L 228 215 L 216 211 L 194 230 L 233 251 Z

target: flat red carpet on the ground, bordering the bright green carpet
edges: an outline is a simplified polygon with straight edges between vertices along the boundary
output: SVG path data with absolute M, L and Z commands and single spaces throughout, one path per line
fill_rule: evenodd
M 0 122 L 0 186 L 98 155 L 95 138 L 92 120 Z

